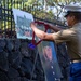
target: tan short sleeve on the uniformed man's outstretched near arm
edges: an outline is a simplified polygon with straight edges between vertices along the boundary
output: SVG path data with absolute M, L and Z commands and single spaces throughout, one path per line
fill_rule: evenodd
M 60 30 L 56 33 L 53 33 L 55 43 L 62 43 L 62 42 L 68 42 L 71 41 L 71 39 L 75 36 L 75 31 L 70 29 Z

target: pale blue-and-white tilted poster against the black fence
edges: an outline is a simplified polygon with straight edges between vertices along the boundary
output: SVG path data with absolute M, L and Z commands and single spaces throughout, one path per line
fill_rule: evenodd
M 30 13 L 13 9 L 15 21 L 15 30 L 18 39 L 32 39 L 32 30 L 30 23 L 33 22 L 33 16 Z

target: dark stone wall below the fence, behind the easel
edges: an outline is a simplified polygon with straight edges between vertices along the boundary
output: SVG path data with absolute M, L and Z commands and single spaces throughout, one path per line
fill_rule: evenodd
M 27 39 L 0 39 L 0 81 L 45 81 L 38 50 L 29 49 L 28 43 Z M 67 80 L 69 65 L 64 50 L 57 46 L 62 81 Z

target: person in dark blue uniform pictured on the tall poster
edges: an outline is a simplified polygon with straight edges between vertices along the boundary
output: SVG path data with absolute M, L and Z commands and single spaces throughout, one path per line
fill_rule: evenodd
M 63 78 L 59 67 L 55 59 L 53 58 L 52 48 L 45 45 L 43 49 L 42 65 L 44 69 L 44 75 L 46 76 L 46 81 L 60 81 Z

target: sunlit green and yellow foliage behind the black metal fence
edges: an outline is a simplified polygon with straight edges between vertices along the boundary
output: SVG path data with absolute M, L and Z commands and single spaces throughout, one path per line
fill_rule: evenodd
M 62 21 L 59 18 L 63 8 L 66 4 L 77 3 L 81 5 L 81 0 L 0 0 L 0 5 L 6 9 L 21 9 L 31 13 L 33 16 L 50 19 Z M 4 11 L 2 11 L 4 13 Z M 11 15 L 11 12 L 5 12 Z M 11 17 L 9 17 L 11 19 Z M 3 21 L 2 26 L 10 27 L 11 23 Z M 64 23 L 64 22 L 63 22 Z M 14 24 L 14 23 L 13 23 Z

